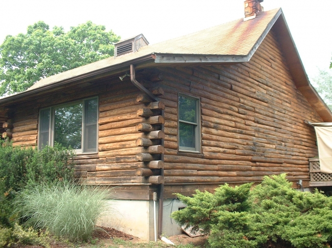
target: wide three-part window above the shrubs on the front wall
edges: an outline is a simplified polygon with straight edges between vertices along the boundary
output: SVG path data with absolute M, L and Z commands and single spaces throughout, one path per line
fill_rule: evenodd
M 39 113 L 38 148 L 55 142 L 77 153 L 97 152 L 98 98 L 44 108 Z

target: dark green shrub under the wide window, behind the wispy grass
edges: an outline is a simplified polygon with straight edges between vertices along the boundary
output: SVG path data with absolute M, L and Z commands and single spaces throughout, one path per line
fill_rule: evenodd
M 0 225 L 12 227 L 17 216 L 12 215 L 11 204 L 28 183 L 72 177 L 73 157 L 73 151 L 60 145 L 38 151 L 0 142 Z

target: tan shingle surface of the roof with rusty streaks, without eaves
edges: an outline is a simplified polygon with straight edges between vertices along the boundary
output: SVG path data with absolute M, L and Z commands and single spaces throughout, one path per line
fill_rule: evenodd
M 148 54 L 204 54 L 221 56 L 247 56 L 266 31 L 268 24 L 280 9 L 261 12 L 255 19 L 243 18 L 210 27 L 193 34 L 141 47 L 135 53 L 118 58 L 108 58 L 65 71 L 36 82 L 27 91 L 50 85 L 61 80 L 112 67 Z

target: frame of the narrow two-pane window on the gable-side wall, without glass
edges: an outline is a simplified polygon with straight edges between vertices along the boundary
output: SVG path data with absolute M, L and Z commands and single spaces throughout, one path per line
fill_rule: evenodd
M 186 97 L 186 98 L 191 98 L 196 101 L 196 123 L 194 122 L 188 122 L 188 121 L 183 121 L 180 120 L 180 104 L 179 104 L 179 97 Z M 201 152 L 201 115 L 200 115 L 200 99 L 197 97 L 193 96 L 188 96 L 182 93 L 178 93 L 178 147 L 179 147 L 179 152 L 193 152 L 193 153 L 200 153 Z M 180 122 L 186 123 L 186 124 L 191 124 L 195 126 L 195 147 L 183 147 L 180 146 Z

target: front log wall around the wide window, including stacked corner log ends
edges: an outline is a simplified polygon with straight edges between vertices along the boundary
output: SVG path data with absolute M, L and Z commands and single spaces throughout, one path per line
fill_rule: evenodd
M 145 82 L 152 86 L 150 90 L 156 95 L 163 94 L 162 89 L 154 88 L 152 82 L 162 79 L 158 75 L 149 79 Z M 163 161 L 160 160 L 160 154 L 164 149 L 160 144 L 164 138 L 161 130 L 164 123 L 161 116 L 163 103 L 141 95 L 129 78 L 120 81 L 114 77 L 81 85 L 80 88 L 16 104 L 14 116 L 3 124 L 6 128 L 3 136 L 9 137 L 13 146 L 34 147 L 38 141 L 38 115 L 41 108 L 98 96 L 98 151 L 77 155 L 75 177 L 89 184 L 162 183 L 160 169 L 163 168 Z

